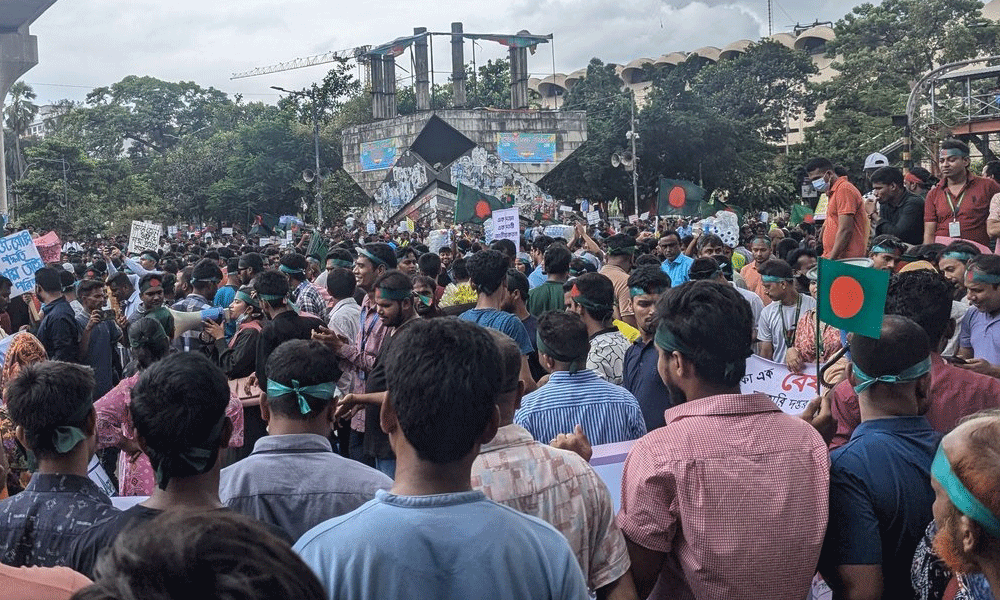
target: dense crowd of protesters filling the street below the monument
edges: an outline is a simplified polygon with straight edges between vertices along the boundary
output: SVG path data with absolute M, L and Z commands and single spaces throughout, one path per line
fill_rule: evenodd
M 939 166 L 814 159 L 825 221 L 733 247 L 69 240 L 0 277 L 2 595 L 993 598 L 1000 184 Z M 891 273 L 879 337 L 819 318 L 820 257 Z M 786 414 L 753 354 L 827 387 Z

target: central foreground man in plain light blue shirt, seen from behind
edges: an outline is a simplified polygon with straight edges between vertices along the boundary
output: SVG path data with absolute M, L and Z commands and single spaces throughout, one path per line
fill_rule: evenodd
M 419 319 L 386 359 L 382 428 L 396 481 L 295 544 L 327 597 L 585 600 L 562 534 L 472 491 L 472 463 L 499 425 L 500 352 L 490 335 L 461 320 Z

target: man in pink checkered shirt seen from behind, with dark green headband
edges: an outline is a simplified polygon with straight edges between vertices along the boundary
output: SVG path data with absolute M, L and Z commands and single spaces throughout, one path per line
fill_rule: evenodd
M 753 323 L 732 287 L 686 283 L 656 313 L 658 370 L 682 404 L 622 473 L 618 524 L 639 597 L 807 597 L 826 530 L 826 445 L 767 396 L 740 394 Z

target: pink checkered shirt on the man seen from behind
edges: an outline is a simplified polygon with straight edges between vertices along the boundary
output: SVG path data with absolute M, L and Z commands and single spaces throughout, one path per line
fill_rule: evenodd
M 629 451 L 618 513 L 626 538 L 667 555 L 650 598 L 805 598 L 829 504 L 820 435 L 761 394 L 665 416 Z

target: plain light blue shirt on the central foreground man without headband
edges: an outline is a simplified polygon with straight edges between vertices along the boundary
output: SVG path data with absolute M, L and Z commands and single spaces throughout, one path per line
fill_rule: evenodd
M 295 551 L 330 600 L 586 600 L 566 538 L 479 491 L 386 491 L 317 525 Z

